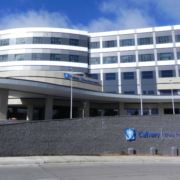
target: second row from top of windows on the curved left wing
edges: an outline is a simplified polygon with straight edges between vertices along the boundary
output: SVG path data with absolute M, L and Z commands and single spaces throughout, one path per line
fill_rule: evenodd
M 28 58 L 28 60 L 44 60 L 43 55 L 46 54 L 42 54 L 42 53 L 33 53 L 30 54 L 30 57 Z M 0 62 L 5 62 L 5 61 L 23 61 L 23 60 L 27 60 L 26 59 L 26 54 L 15 54 L 13 56 L 13 58 L 8 58 L 8 55 L 0 55 Z M 66 55 L 67 57 L 64 59 L 62 58 L 62 54 L 50 54 L 49 60 L 50 61 L 70 61 L 70 62 L 83 62 L 80 59 L 80 56 L 78 55 Z M 87 59 L 87 58 L 86 58 Z M 87 63 L 87 60 L 86 60 Z

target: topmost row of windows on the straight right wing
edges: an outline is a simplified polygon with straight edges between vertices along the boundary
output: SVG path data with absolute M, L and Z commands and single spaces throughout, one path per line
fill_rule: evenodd
M 177 35 L 175 38 L 176 42 L 180 42 L 180 35 Z M 172 37 L 171 36 L 160 36 L 156 38 L 156 44 L 165 44 L 165 43 L 172 43 Z M 150 45 L 153 44 L 153 38 L 152 37 L 146 37 L 146 38 L 138 38 L 137 39 L 138 45 Z M 123 39 L 120 40 L 120 46 L 134 46 L 135 40 L 134 39 Z M 90 42 L 89 45 L 90 49 L 98 49 L 100 48 L 100 42 Z M 103 41 L 103 48 L 111 48 L 111 47 L 117 47 L 117 40 L 111 40 L 111 41 Z

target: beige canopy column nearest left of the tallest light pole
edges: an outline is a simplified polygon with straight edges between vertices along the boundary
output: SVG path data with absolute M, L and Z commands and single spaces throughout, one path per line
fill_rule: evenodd
M 53 113 L 53 96 L 46 96 L 46 104 L 45 104 L 45 120 L 52 120 Z

